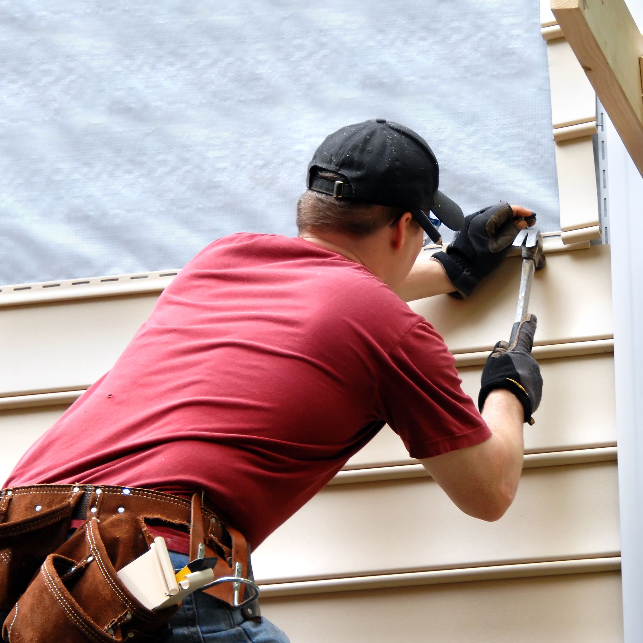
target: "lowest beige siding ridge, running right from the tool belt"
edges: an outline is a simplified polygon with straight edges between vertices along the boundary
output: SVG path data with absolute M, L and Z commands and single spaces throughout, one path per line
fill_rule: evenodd
M 618 555 L 602 558 L 586 558 L 570 561 L 546 561 L 542 563 L 521 563 L 518 565 L 496 565 L 466 569 L 434 570 L 430 572 L 406 572 L 353 578 L 332 578 L 321 581 L 296 581 L 293 583 L 272 583 L 262 585 L 264 598 L 319 594 L 329 592 L 357 592 L 414 585 L 435 585 L 444 583 L 470 583 L 471 581 L 500 581 L 512 578 L 538 576 L 560 576 L 566 574 L 592 574 L 620 570 Z

